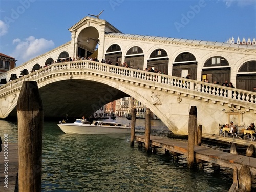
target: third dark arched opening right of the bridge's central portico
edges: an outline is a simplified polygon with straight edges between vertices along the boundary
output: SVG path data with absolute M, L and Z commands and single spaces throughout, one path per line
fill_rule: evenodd
M 169 58 L 164 49 L 155 49 L 150 58 L 147 59 L 147 68 L 151 67 L 153 70 L 157 70 L 161 73 L 168 74 Z

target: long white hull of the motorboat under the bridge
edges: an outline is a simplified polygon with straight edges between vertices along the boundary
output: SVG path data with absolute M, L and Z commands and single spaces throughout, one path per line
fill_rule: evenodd
M 92 126 L 75 125 L 73 123 L 58 124 L 60 129 L 67 134 L 129 134 L 131 128 L 118 126 Z

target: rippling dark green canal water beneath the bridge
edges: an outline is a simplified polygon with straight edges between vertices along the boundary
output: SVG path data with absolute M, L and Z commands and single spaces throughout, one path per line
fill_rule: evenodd
M 121 117 L 109 121 L 131 123 Z M 57 123 L 44 122 L 42 191 L 201 192 L 228 191 L 232 185 L 232 169 L 214 173 L 206 163 L 204 170 L 190 170 L 185 156 L 176 163 L 163 150 L 147 154 L 136 143 L 130 147 L 129 134 L 65 134 Z M 145 119 L 136 119 L 136 134 L 144 134 L 144 126 Z M 9 142 L 17 142 L 17 122 L 0 120 L 0 136 L 6 133 Z M 151 120 L 151 134 L 167 137 L 170 131 Z

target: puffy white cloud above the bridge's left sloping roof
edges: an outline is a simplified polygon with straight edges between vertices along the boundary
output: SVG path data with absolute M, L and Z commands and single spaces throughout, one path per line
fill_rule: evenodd
M 52 40 L 46 40 L 44 38 L 36 39 L 33 36 L 30 36 L 23 41 L 17 38 L 12 42 L 17 45 L 10 56 L 17 59 L 20 64 L 54 48 L 54 42 Z

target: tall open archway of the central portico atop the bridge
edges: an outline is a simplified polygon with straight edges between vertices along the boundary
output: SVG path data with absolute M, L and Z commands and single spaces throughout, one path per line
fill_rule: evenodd
M 77 57 L 79 57 L 79 59 L 98 57 L 97 49 L 98 44 L 100 44 L 100 40 L 99 32 L 95 27 L 87 27 L 83 29 L 78 35 L 77 43 Z

